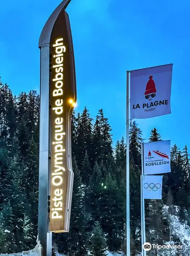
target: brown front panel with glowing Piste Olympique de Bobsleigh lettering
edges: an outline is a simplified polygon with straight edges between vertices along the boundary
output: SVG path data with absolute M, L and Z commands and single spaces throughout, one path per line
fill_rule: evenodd
M 76 102 L 76 84 L 71 30 L 64 9 L 51 32 L 50 68 L 50 231 L 68 232 L 74 176 L 71 161 L 71 113 Z

